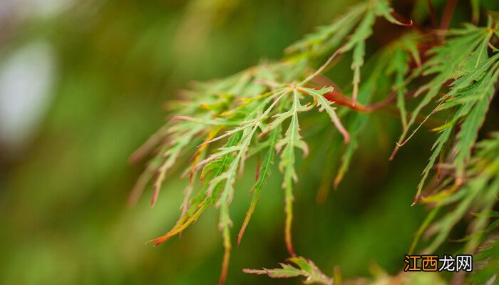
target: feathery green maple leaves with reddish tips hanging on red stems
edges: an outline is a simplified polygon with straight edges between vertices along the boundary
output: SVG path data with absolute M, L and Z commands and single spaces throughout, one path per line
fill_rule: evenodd
M 167 234 L 151 242 L 165 242 L 196 222 L 208 207 L 217 207 L 225 247 L 222 284 L 232 248 L 230 204 L 235 183 L 245 172 L 245 162 L 261 157 L 237 244 L 242 241 L 259 195 L 278 161 L 286 213 L 284 242 L 292 256 L 289 261 L 298 267 L 282 264 L 282 269 L 246 271 L 271 277 L 304 276 L 307 284 L 331 284 L 332 279 L 312 261 L 296 256 L 292 244 L 293 187 L 299 177 L 297 150 L 304 157 L 309 153 L 300 118 L 304 113 L 327 115 L 330 125 L 346 143 L 334 179 L 337 187 L 349 169 L 369 114 L 391 105 L 401 118 L 402 130 L 391 158 L 432 115 L 445 118 L 445 123 L 433 128 L 438 135 L 413 201 L 433 207 L 416 233 L 413 249 L 423 232 L 429 231 L 436 237 L 426 251 L 436 250 L 470 210 L 480 213 L 470 225 L 471 232 L 485 231 L 499 190 L 499 135 L 478 146 L 475 142 L 497 89 L 499 52 L 492 44 L 499 36 L 497 21 L 490 16 L 486 26 L 465 24 L 463 28 L 451 29 L 446 31 L 445 41 L 433 31 L 407 28 L 402 36 L 369 58 L 374 67 L 361 81 L 366 39 L 373 34 L 377 18 L 401 26 L 412 24 L 396 19 L 386 0 L 364 1 L 332 24 L 289 46 L 281 61 L 262 62 L 234 76 L 196 83 L 182 93 L 180 100 L 171 103 L 175 117 L 133 155 L 138 159 L 155 153 L 130 195 L 130 202 L 135 202 L 155 177 L 152 204 L 180 157 L 191 157 L 183 172 L 189 183 L 180 218 Z M 423 46 L 429 46 L 428 51 Z M 324 73 L 346 54 L 351 55 L 353 77 L 351 89 L 345 88 L 348 92 L 344 93 L 334 78 L 331 81 Z M 325 55 L 331 56 L 319 66 Z M 381 81 L 391 86 L 390 93 L 373 103 L 379 98 Z M 408 108 L 409 98 L 416 101 L 414 108 Z M 423 195 L 435 167 L 438 187 Z M 438 217 L 439 209 L 451 205 L 453 210 Z M 463 251 L 474 252 L 483 239 L 483 234 L 471 235 L 466 238 Z

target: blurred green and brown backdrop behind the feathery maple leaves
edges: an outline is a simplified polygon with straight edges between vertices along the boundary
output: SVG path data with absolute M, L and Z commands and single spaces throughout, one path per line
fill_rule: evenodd
M 163 103 L 191 80 L 280 58 L 286 46 L 352 4 L 2 0 L 0 284 L 215 284 L 223 254 L 217 212 L 210 209 L 181 239 L 144 244 L 175 223 L 185 181 L 170 175 L 155 207 L 150 189 L 126 207 L 143 170 L 128 156 L 164 123 Z M 383 38 L 376 31 L 373 46 Z M 324 175 L 336 173 L 342 145 L 313 144 L 297 185 L 297 253 L 326 274 L 340 266 L 345 279 L 370 276 L 373 264 L 396 274 L 425 216 L 410 204 L 431 140 L 421 133 L 389 163 L 399 123 L 373 117 L 351 171 L 326 202 L 316 202 L 317 189 Z M 324 163 L 324 152 L 336 158 Z M 252 179 L 242 178 L 231 206 L 233 241 Z M 280 179 L 274 175 L 264 188 L 232 252 L 227 284 L 299 284 L 242 273 L 287 258 Z

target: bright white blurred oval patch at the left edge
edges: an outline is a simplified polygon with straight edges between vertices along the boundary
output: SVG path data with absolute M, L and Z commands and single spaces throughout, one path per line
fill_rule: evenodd
M 29 43 L 0 62 L 0 142 L 21 150 L 50 105 L 54 56 L 46 42 Z

